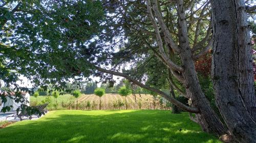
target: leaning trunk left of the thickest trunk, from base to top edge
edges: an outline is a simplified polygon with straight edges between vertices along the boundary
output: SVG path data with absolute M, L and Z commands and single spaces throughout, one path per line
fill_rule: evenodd
M 193 61 L 193 55 L 189 46 L 186 16 L 183 7 L 183 1 L 177 1 L 177 11 L 179 14 L 179 46 L 180 46 L 180 58 L 183 64 L 184 71 L 182 72 L 184 78 L 184 87 L 186 89 L 187 98 L 191 98 L 192 106 L 200 109 L 199 113 L 196 113 L 196 119 L 202 130 L 217 135 L 222 135 L 226 132 L 220 119 L 211 109 L 208 100 L 203 94 L 197 73 Z

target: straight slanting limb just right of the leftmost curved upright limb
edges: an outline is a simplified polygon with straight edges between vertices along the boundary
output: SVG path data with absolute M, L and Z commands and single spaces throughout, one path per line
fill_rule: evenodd
M 178 48 L 177 44 L 175 44 L 172 35 L 170 34 L 166 24 L 164 23 L 162 14 L 160 13 L 158 9 L 158 4 L 156 0 L 153 0 L 153 10 L 156 14 L 157 20 L 162 28 L 162 32 L 164 34 L 164 40 L 168 46 L 170 46 L 172 49 L 174 49 L 176 52 L 179 52 L 180 49 Z

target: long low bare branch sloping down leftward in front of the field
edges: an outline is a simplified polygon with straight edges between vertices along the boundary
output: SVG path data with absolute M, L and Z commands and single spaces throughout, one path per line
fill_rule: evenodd
M 145 85 L 145 84 L 143 84 L 143 83 L 137 81 L 136 79 L 132 78 L 132 77 L 129 76 L 129 75 L 126 75 L 126 74 L 123 74 L 123 73 L 120 73 L 120 72 L 116 72 L 116 71 L 106 70 L 106 69 L 97 67 L 97 66 L 95 66 L 95 65 L 93 65 L 93 66 L 94 66 L 95 69 L 97 69 L 97 70 L 100 71 L 100 72 L 124 77 L 124 78 L 126 78 L 126 79 L 132 81 L 134 84 L 140 86 L 141 88 L 144 88 L 144 89 L 147 89 L 147 90 L 156 92 L 156 93 L 158 93 L 159 95 L 161 95 L 162 97 L 164 97 L 165 99 L 167 99 L 169 102 L 175 104 L 176 106 L 180 107 L 180 108 L 183 109 L 183 110 L 186 110 L 186 111 L 188 111 L 188 112 L 194 112 L 194 113 L 198 113 L 198 112 L 199 112 L 198 108 L 189 107 L 189 106 L 187 106 L 187 105 L 184 105 L 183 103 L 179 102 L 178 100 L 176 100 L 176 99 L 173 98 L 173 97 L 170 97 L 168 94 L 164 93 L 163 91 L 160 91 L 160 90 L 155 89 L 155 88 L 152 88 L 152 87 L 148 87 L 147 85 Z

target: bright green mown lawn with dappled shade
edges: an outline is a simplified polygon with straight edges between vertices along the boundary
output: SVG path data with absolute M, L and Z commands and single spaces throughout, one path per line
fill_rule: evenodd
M 181 131 L 180 131 L 181 130 Z M 0 129 L 0 142 L 220 143 L 187 113 L 166 110 L 56 110 Z

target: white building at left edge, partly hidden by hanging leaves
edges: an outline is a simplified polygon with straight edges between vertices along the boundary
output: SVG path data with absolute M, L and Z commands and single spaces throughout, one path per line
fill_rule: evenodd
M 1 92 L 0 92 L 1 93 Z M 7 94 L 7 93 L 6 93 Z M 25 96 L 25 98 L 30 102 L 30 95 L 28 93 L 22 92 L 22 95 Z M 11 96 L 14 97 L 14 93 L 11 94 Z M 22 103 L 18 102 L 16 103 L 14 99 L 11 99 L 10 97 L 7 97 L 7 102 L 2 103 L 2 100 L 0 98 L 0 111 L 2 110 L 3 107 L 10 106 L 12 105 L 13 107 L 11 108 L 10 111 L 16 111 L 16 109 L 21 105 Z M 27 103 L 29 106 L 29 103 Z

